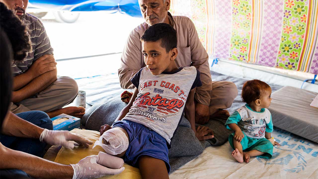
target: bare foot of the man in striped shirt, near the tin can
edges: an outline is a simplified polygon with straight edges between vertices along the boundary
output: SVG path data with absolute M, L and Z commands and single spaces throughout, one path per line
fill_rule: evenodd
M 55 110 L 55 111 L 47 112 L 47 115 L 49 115 L 50 118 L 53 118 L 62 113 L 70 115 L 70 116 L 74 116 L 77 118 L 82 118 L 83 115 L 85 114 L 85 108 L 71 106 L 71 107 L 66 107 L 66 108 Z

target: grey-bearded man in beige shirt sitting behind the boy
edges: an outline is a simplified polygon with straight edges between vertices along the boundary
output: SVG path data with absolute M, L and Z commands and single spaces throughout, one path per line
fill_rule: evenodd
M 232 82 L 212 82 L 208 54 L 201 44 L 196 28 L 190 18 L 171 16 L 168 12 L 170 0 L 139 0 L 141 13 L 146 22 L 130 32 L 121 55 L 121 66 L 118 69 L 120 85 L 124 89 L 133 89 L 130 79 L 145 67 L 140 37 L 149 26 L 167 23 L 176 29 L 178 37 L 178 67 L 195 66 L 201 72 L 202 86 L 197 87 L 196 123 L 205 124 L 210 118 L 229 117 L 228 111 L 234 98 L 238 95 L 236 85 Z M 182 80 L 182 79 L 180 79 Z M 212 90 L 213 89 L 213 90 Z

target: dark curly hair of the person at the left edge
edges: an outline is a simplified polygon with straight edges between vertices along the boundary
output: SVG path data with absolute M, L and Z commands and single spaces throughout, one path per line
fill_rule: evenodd
M 32 50 L 27 27 L 17 18 L 13 11 L 0 2 L 0 26 L 7 34 L 13 49 L 14 60 L 23 60 Z

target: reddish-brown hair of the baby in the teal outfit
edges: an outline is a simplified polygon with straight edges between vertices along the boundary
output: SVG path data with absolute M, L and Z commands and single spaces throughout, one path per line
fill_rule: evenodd
M 271 87 L 260 80 L 250 80 L 244 83 L 242 89 L 242 101 L 250 104 L 256 99 L 259 99 L 261 95 L 265 93 L 267 89 Z

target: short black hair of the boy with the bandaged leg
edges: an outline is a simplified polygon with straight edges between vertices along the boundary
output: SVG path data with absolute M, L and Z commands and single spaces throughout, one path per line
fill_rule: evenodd
M 176 30 L 166 23 L 159 23 L 150 26 L 149 29 L 143 33 L 140 40 L 145 42 L 156 42 L 161 40 L 161 47 L 165 48 L 167 53 L 177 47 Z

